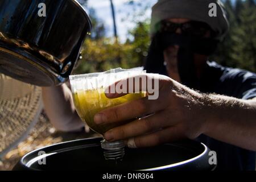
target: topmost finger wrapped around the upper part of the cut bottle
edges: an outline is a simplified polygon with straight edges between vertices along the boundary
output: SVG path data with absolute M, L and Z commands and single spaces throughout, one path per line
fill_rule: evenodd
M 127 93 L 139 93 L 141 91 L 152 95 L 155 92 L 159 92 L 160 86 L 167 80 L 170 80 L 170 78 L 163 75 L 145 73 L 115 82 L 105 90 L 105 94 L 108 98 L 117 98 Z

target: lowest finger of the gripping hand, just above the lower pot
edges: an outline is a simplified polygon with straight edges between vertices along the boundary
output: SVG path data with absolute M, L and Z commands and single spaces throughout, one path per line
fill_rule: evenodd
M 185 138 L 183 129 L 181 129 L 179 126 L 173 126 L 155 133 L 135 137 L 134 144 L 137 148 L 152 147 L 183 138 Z M 128 140 L 126 140 L 125 143 L 128 143 Z

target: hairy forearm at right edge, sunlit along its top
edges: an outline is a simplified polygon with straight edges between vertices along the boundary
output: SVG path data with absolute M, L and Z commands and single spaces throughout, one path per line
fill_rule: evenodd
M 208 95 L 204 134 L 256 151 L 256 101 Z

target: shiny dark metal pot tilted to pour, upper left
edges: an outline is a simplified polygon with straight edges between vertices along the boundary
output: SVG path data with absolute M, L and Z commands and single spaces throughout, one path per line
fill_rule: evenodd
M 0 72 L 38 86 L 60 85 L 90 30 L 89 16 L 75 0 L 1 0 Z

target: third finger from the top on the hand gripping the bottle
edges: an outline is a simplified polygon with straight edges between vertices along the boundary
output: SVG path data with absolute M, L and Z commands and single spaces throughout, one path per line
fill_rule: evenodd
M 168 122 L 166 122 L 167 119 Z M 159 113 L 149 115 L 148 117 L 129 122 L 126 125 L 115 127 L 114 129 L 106 132 L 104 138 L 113 142 L 115 140 L 148 134 L 152 131 L 166 127 L 167 125 L 171 125 L 169 118 L 166 118 L 166 114 L 164 114 L 163 111 L 160 111 Z

